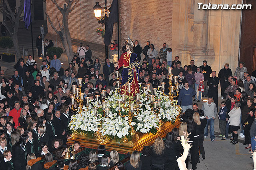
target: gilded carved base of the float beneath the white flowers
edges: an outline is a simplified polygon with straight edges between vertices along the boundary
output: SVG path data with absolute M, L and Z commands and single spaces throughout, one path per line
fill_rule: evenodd
M 173 128 L 179 128 L 180 127 L 180 121 L 176 120 L 175 124 L 172 124 L 171 122 L 164 123 L 164 126 L 161 128 L 160 132 L 157 134 L 142 134 L 136 132 L 134 135 L 134 139 L 127 143 L 119 144 L 115 141 L 106 141 L 106 144 L 103 144 L 106 146 L 106 150 L 116 150 L 119 153 L 132 153 L 134 150 L 141 151 L 143 149 L 143 146 L 151 146 L 154 144 L 154 141 L 156 138 L 161 137 L 165 138 L 166 134 L 170 131 L 172 131 Z M 67 142 L 67 144 L 73 144 L 74 141 L 79 141 L 80 145 L 86 148 L 94 148 L 97 149 L 98 145 L 100 145 L 100 142 L 96 140 L 96 138 L 88 138 L 83 135 L 78 134 L 72 134 L 72 138 L 70 138 Z

